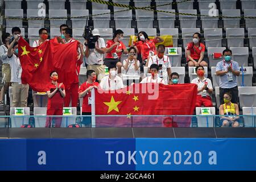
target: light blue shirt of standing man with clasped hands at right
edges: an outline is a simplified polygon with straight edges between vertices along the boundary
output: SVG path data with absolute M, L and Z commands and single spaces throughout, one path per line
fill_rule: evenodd
M 233 70 L 240 71 L 239 65 L 236 61 L 231 60 L 229 63 L 226 63 L 226 61 L 222 60 L 217 63 L 216 72 L 217 71 L 226 71 L 226 70 L 228 70 L 228 67 L 230 65 L 232 65 Z M 230 89 L 230 88 L 237 86 L 237 76 L 233 75 L 232 72 L 229 72 L 229 73 L 232 74 L 233 81 L 228 81 L 228 75 L 227 75 L 228 73 L 220 76 L 220 88 Z

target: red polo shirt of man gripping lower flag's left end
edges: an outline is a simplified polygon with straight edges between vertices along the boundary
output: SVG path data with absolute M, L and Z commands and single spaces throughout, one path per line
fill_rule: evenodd
M 87 81 L 84 82 L 79 89 L 79 93 L 84 92 L 84 90 L 88 89 L 90 86 L 98 86 L 98 82 L 93 82 L 92 84 L 89 84 Z M 88 98 L 91 97 L 91 93 L 88 92 L 84 98 L 82 98 L 82 112 L 85 113 L 91 113 L 92 112 L 92 106 L 88 104 Z

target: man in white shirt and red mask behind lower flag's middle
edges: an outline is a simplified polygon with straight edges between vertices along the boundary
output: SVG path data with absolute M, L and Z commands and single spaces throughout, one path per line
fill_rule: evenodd
M 163 78 L 160 78 L 158 76 L 159 67 L 157 64 L 151 64 L 150 66 L 150 73 L 151 76 L 147 76 L 146 78 L 143 78 L 141 81 L 141 84 L 144 83 L 158 83 L 158 84 L 164 84 Z

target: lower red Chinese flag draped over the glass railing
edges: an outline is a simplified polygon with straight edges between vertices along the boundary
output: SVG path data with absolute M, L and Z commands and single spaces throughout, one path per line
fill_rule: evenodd
M 96 126 L 161 126 L 164 119 L 173 117 L 133 115 L 192 115 L 197 95 L 196 84 L 135 84 L 115 93 L 96 91 L 96 115 L 125 115 L 97 117 Z M 191 118 L 175 118 L 187 122 Z M 169 121 L 168 120 L 168 121 Z M 179 123 L 178 123 L 179 125 Z M 185 126 L 187 126 L 185 125 Z M 181 125 L 180 125 L 181 126 Z M 184 126 L 184 125 L 183 125 Z

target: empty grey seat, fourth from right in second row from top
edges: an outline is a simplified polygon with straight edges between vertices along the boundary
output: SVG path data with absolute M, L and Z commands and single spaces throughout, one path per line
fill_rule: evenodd
M 196 28 L 197 12 L 196 10 L 179 10 L 179 13 L 195 14 L 193 15 L 179 15 L 180 28 Z

